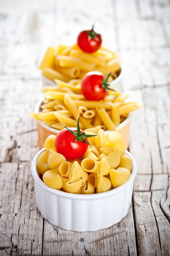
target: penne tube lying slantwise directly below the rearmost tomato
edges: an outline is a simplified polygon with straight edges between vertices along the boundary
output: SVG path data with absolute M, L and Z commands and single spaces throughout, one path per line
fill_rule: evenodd
M 104 67 L 105 63 L 106 63 L 105 56 L 94 56 L 94 55 L 89 54 L 89 53 L 79 52 L 75 49 L 72 49 L 70 51 L 70 56 L 80 58 L 83 61 L 88 61 L 90 63 L 95 63 L 96 65 L 99 65 L 101 67 Z

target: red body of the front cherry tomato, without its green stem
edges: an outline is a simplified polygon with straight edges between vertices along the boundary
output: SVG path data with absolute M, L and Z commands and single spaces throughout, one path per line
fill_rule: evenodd
M 71 131 L 77 131 L 72 128 Z M 83 133 L 82 130 L 80 130 Z M 87 141 L 87 139 L 85 139 Z M 76 159 L 82 157 L 88 149 L 88 144 L 82 141 L 75 141 L 75 136 L 66 128 L 61 130 L 55 140 L 55 148 L 59 154 L 62 154 L 66 159 Z

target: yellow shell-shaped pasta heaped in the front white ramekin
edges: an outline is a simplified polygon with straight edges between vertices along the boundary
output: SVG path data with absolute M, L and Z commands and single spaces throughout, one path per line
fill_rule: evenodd
M 97 134 L 88 138 L 92 147 L 88 146 L 84 156 L 75 160 L 66 160 L 56 152 L 56 135 L 45 140 L 37 171 L 43 175 L 47 186 L 68 193 L 94 194 L 114 189 L 129 180 L 133 163 L 125 154 L 122 135 L 118 131 L 105 134 L 100 127 L 88 132 Z

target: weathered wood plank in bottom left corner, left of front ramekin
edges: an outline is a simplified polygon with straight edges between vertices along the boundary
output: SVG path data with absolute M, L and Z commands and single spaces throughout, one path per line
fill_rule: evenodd
M 35 203 L 30 163 L 0 166 L 0 255 L 41 255 L 43 219 Z

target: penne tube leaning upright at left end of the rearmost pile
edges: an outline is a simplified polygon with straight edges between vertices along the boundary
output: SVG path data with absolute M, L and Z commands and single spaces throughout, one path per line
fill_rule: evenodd
M 43 70 L 46 67 L 52 67 L 54 63 L 54 52 L 55 49 L 53 47 L 48 47 L 45 56 L 39 66 L 40 70 Z

